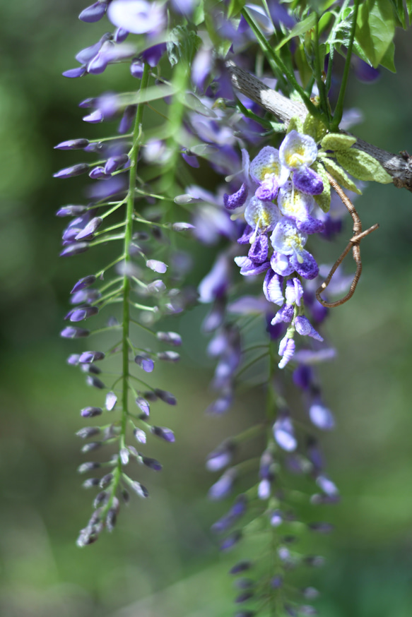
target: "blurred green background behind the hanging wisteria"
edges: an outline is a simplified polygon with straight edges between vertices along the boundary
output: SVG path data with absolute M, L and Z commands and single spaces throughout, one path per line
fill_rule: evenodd
M 158 424 L 176 431 L 177 443 L 150 447 L 164 465 L 161 474 L 147 474 L 152 498 L 133 500 L 116 531 L 93 546 L 74 544 L 91 495 L 76 474 L 84 456 L 73 433 L 81 426 L 78 409 L 100 404 L 101 396 L 66 365 L 76 344 L 58 335 L 69 289 L 93 270 L 93 254 L 57 258 L 64 223 L 54 212 L 78 203 L 84 180 L 52 179 L 78 161 L 52 147 L 98 136 L 100 126 L 82 124 L 78 102 L 120 89 L 129 78 L 126 68 L 88 80 L 61 77 L 106 27 L 78 21 L 83 1 L 0 4 L 0 615 L 230 615 L 234 592 L 225 573 L 241 551 L 216 551 L 208 529 L 225 505 L 206 500 L 213 477 L 204 459 L 239 426 L 252 424 L 257 402 L 246 395 L 227 417 L 204 416 L 212 366 L 199 333 L 203 307 L 173 322 L 188 344 L 180 366 L 164 370 L 159 381 L 179 405 L 155 413 Z M 365 114 L 355 133 L 393 152 L 412 150 L 411 32 L 400 32 L 396 43 L 398 73 L 385 71 L 375 85 L 352 79 L 348 96 Z M 379 222 L 380 229 L 363 244 L 354 298 L 326 325 L 339 355 L 321 369 L 337 419 L 322 444 L 343 500 L 317 515 L 336 532 L 314 537 L 312 551 L 328 561 L 305 572 L 302 585 L 321 589 L 317 607 L 325 617 L 410 617 L 412 197 L 370 186 L 357 208 L 365 227 Z M 343 244 L 322 247 L 325 259 Z M 206 260 L 213 251 L 198 260 L 199 272 Z

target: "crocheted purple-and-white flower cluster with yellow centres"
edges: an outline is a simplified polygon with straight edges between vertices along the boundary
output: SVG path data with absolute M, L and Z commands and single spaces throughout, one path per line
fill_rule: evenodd
M 313 196 L 324 190 L 322 178 L 311 167 L 317 152 L 314 139 L 294 129 L 279 150 L 265 146 L 250 164 L 244 151 L 246 181 L 236 193 L 224 196 L 228 210 L 245 208 L 247 225 L 237 241 L 250 244 L 250 248 L 247 256 L 235 258 L 240 274 L 256 276 L 266 272 L 264 295 L 281 306 L 271 323 L 290 323 L 279 346 L 279 368 L 293 357 L 295 332 L 323 340 L 302 314 L 303 289 L 296 277 L 312 280 L 319 274 L 316 260 L 304 248 L 307 236 L 324 228 L 322 220 L 312 216 L 316 206 Z

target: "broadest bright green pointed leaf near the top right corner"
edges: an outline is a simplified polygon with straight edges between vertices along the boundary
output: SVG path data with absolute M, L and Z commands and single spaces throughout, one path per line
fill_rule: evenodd
M 355 38 L 374 68 L 386 54 L 395 34 L 391 0 L 365 0 L 360 4 Z

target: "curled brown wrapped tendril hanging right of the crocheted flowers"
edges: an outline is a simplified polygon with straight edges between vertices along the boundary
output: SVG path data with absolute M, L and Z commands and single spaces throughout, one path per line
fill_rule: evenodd
M 334 309 L 336 306 L 341 306 L 341 304 L 344 304 L 345 302 L 350 300 L 351 297 L 353 296 L 353 293 L 355 292 L 355 289 L 356 289 L 356 285 L 358 284 L 360 275 L 362 273 L 362 259 L 360 258 L 360 241 L 363 238 L 365 238 L 365 236 L 370 234 L 371 232 L 375 232 L 375 229 L 377 229 L 379 225 L 378 224 L 372 225 L 372 227 L 369 227 L 369 229 L 366 229 L 366 231 L 363 232 L 362 222 L 360 222 L 360 217 L 358 215 L 358 212 L 356 212 L 355 210 L 355 206 L 353 205 L 351 200 L 348 198 L 348 196 L 346 196 L 346 194 L 343 193 L 341 187 L 336 182 L 336 180 L 330 174 L 328 174 L 328 172 L 326 172 L 326 174 L 328 176 L 329 184 L 331 185 L 332 188 L 334 188 L 336 193 L 339 195 L 343 204 L 346 205 L 346 208 L 353 220 L 353 236 L 349 240 L 348 246 L 346 246 L 341 256 L 335 261 L 334 265 L 331 267 L 331 271 L 329 272 L 329 275 L 327 275 L 326 277 L 326 280 L 324 280 L 322 285 L 318 287 L 316 291 L 316 297 L 317 297 L 317 300 L 320 302 L 320 304 L 322 304 L 322 306 L 326 306 L 327 309 Z M 355 263 L 356 263 L 356 272 L 353 277 L 353 281 L 351 282 L 351 287 L 349 288 L 349 291 L 346 294 L 346 296 L 344 296 L 344 298 L 341 298 L 340 300 L 336 300 L 335 302 L 326 302 L 325 300 L 322 299 L 320 294 L 322 294 L 322 292 L 324 292 L 326 287 L 328 287 L 329 283 L 331 282 L 331 278 L 336 272 L 336 269 L 339 267 L 339 265 L 341 265 L 343 259 L 346 257 L 346 255 L 351 250 L 351 248 L 352 248 L 353 259 L 355 260 Z

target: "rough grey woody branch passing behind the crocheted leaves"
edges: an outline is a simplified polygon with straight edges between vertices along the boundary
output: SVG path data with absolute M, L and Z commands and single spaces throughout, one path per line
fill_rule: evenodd
M 243 68 L 236 66 L 234 62 L 227 61 L 226 67 L 230 73 L 232 85 L 242 92 L 243 95 L 259 104 L 266 112 L 271 112 L 276 118 L 288 125 L 293 116 L 304 119 L 307 109 L 303 103 L 291 101 L 287 97 L 271 90 Z M 286 127 L 285 127 L 286 128 Z M 392 176 L 394 185 L 397 188 L 406 188 L 412 192 L 412 157 L 409 158 L 392 154 L 381 148 L 377 148 L 363 139 L 358 139 L 353 148 L 358 148 L 372 155 L 382 167 Z

